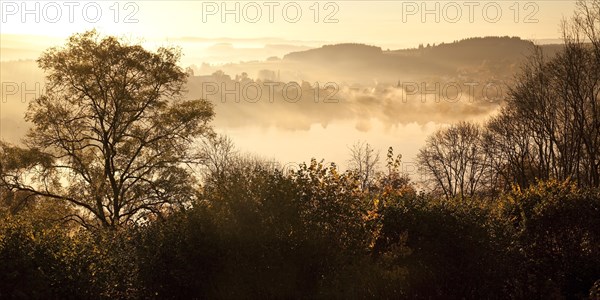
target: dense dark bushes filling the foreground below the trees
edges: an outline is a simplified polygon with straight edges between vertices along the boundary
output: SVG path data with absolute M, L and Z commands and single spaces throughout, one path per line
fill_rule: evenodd
M 243 162 L 193 208 L 117 230 L 29 203 L 3 215 L 1 296 L 584 299 L 598 279 L 598 190 L 436 201 L 388 179 L 365 192 L 315 161 L 287 176 Z

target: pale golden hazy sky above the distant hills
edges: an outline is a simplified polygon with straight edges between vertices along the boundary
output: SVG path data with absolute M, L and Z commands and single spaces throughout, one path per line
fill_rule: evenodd
M 231 38 L 265 43 L 359 42 L 384 48 L 472 36 L 556 39 L 575 1 L 2 1 L 1 32 L 67 37 L 84 29 L 146 42 Z M 280 40 L 278 40 L 280 39 Z M 9 41 L 2 41 L 9 47 Z M 31 42 L 31 39 L 24 42 Z M 207 41 L 210 43 L 210 41 Z M 185 45 L 182 45 L 185 46 Z

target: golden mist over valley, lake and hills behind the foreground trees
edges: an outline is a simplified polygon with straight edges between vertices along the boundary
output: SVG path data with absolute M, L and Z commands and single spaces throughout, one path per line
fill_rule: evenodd
M 311 155 L 342 165 L 347 146 L 328 141 L 366 140 L 379 150 L 397 145 L 410 161 L 433 129 L 485 121 L 502 106 L 514 72 L 533 49 L 532 42 L 516 37 L 398 50 L 283 39 L 172 42 L 182 44 L 187 58 L 181 65 L 189 74 L 184 97 L 212 102 L 216 130 L 240 148 L 301 162 L 310 160 L 306 150 L 316 146 L 323 151 Z M 41 53 L 33 46 L 38 44 L 19 47 Z M 561 48 L 543 47 L 548 55 Z M 19 51 L 2 51 L 10 55 L 1 62 L 0 136 L 19 143 L 29 127 L 23 120 L 27 104 L 43 92 L 44 74 L 33 59 L 10 60 Z M 282 147 L 282 140 L 294 146 Z

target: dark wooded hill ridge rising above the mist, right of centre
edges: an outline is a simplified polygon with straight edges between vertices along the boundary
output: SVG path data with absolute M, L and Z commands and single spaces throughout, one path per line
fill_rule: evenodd
M 283 60 L 329 66 L 342 73 L 359 72 L 366 77 L 381 78 L 394 74 L 453 76 L 470 68 L 484 68 L 499 77 L 507 77 L 514 74 L 520 63 L 532 53 L 533 47 L 533 42 L 518 37 L 469 38 L 392 51 L 364 44 L 338 44 L 292 52 Z M 548 55 L 554 55 L 561 48 L 560 45 L 542 47 Z

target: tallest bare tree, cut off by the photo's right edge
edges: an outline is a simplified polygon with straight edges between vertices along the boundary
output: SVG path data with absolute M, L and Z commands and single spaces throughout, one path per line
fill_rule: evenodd
M 565 50 L 550 64 L 563 114 L 559 134 L 575 153 L 561 177 L 600 186 L 600 0 L 579 0 L 563 23 Z M 570 148 L 570 149 L 569 149 Z M 564 161 L 561 161 L 564 163 Z

